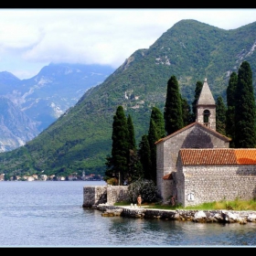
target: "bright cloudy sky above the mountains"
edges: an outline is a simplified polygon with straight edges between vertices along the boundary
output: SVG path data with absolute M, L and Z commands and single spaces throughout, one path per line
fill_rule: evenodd
M 0 72 L 30 79 L 51 62 L 118 69 L 182 19 L 236 29 L 256 21 L 256 8 L 0 8 Z

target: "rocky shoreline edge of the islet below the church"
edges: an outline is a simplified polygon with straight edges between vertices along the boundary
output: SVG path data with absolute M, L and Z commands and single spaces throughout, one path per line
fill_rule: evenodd
M 102 217 L 121 216 L 126 218 L 165 219 L 193 221 L 199 223 L 256 223 L 256 211 L 235 210 L 165 210 L 151 208 L 115 207 L 107 204 L 94 205 L 92 208 L 101 210 Z

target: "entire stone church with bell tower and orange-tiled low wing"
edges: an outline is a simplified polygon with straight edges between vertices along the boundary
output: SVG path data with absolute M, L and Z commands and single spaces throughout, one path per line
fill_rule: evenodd
M 197 119 L 156 144 L 156 186 L 164 202 L 183 207 L 256 197 L 256 148 L 229 148 L 216 131 L 216 103 L 204 80 Z

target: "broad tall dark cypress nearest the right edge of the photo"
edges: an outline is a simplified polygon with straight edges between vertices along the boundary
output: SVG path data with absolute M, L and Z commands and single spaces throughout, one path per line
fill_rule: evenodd
M 243 61 L 240 65 L 235 95 L 235 147 L 255 147 L 255 99 L 251 66 L 248 61 Z

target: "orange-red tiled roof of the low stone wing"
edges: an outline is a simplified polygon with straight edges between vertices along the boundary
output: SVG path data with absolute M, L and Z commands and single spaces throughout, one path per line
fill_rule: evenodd
M 182 148 L 183 165 L 256 165 L 256 148 Z

